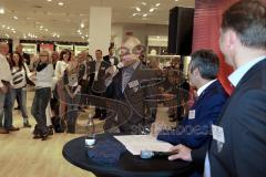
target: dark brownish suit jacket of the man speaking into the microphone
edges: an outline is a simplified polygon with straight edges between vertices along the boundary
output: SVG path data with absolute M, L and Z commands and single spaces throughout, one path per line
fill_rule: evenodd
M 115 110 L 117 119 L 114 119 L 114 117 L 110 118 L 109 122 L 105 122 L 104 129 L 113 125 L 119 126 L 123 133 L 140 134 L 142 131 L 140 125 L 145 125 L 145 123 L 155 119 L 156 102 L 149 101 L 152 95 L 157 93 L 157 90 L 153 86 L 152 79 L 156 77 L 153 74 L 154 72 L 151 72 L 151 70 L 147 70 L 146 66 L 140 63 L 126 84 L 124 92 L 122 92 L 122 70 L 120 70 L 108 87 L 108 97 L 123 102 L 127 110 L 121 108 L 120 104 L 111 107 Z M 150 110 L 151 116 L 145 114 L 145 106 Z

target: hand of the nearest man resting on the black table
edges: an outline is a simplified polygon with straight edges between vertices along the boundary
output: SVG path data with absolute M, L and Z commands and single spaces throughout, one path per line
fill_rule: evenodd
M 176 153 L 175 155 L 168 156 L 168 160 L 175 160 L 175 159 L 183 159 L 185 162 L 192 162 L 191 152 L 192 149 L 184 146 L 184 145 L 177 145 L 170 149 L 170 152 Z

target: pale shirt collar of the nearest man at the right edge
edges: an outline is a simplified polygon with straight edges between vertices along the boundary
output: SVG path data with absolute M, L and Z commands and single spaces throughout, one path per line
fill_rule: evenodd
M 249 69 L 252 69 L 255 64 L 257 64 L 258 62 L 260 62 L 262 60 L 264 60 L 266 58 L 266 55 L 259 56 L 256 60 L 253 60 L 248 63 L 246 63 L 245 65 L 241 66 L 239 69 L 237 69 L 236 71 L 234 71 L 229 76 L 228 80 L 229 82 L 236 86 L 241 79 L 248 72 Z

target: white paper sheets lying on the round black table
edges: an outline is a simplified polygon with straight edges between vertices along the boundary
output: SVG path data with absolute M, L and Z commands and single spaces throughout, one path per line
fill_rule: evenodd
M 170 148 L 173 147 L 170 143 L 157 140 L 156 137 L 151 135 L 125 135 L 114 137 L 133 155 L 140 155 L 141 150 L 168 152 Z

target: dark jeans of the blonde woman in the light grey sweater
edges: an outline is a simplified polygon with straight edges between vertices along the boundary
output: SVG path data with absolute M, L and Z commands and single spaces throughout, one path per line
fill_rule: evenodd
M 37 131 L 41 132 L 41 134 L 48 131 L 45 110 L 50 98 L 51 98 L 50 87 L 35 90 L 35 95 L 31 106 L 31 114 L 37 121 L 35 128 Z

